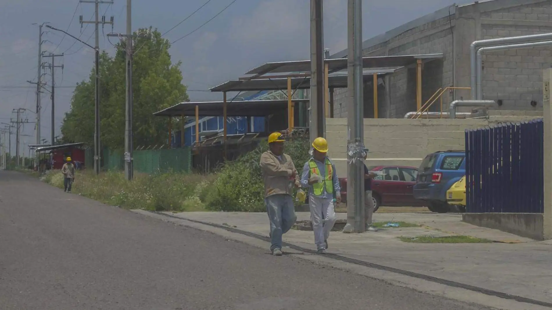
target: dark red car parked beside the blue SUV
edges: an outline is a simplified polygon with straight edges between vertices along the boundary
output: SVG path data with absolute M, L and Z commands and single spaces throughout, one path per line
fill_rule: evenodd
M 408 166 L 375 166 L 368 167 L 370 171 L 381 171 L 384 175 L 378 175 L 372 180 L 372 197 L 374 199 L 374 212 L 380 206 L 390 207 L 421 207 L 422 200 L 414 199 L 412 193 L 416 184 L 418 169 Z M 341 185 L 341 199 L 347 202 L 347 178 L 339 178 Z

